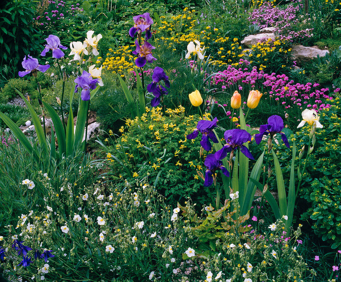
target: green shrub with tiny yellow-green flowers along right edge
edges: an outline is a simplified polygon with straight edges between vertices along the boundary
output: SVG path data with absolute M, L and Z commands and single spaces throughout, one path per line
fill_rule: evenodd
M 340 98 L 337 97 L 329 101 L 329 103 L 330 108 L 322 110 L 320 114 L 320 122 L 323 128 L 317 128 L 316 130 L 316 144 L 309 156 L 306 173 L 302 177 L 299 196 L 310 203 L 310 208 L 302 218 L 309 219 L 310 217 L 313 220 L 312 228 L 314 232 L 321 236 L 324 241 L 330 242 L 332 248 L 337 248 L 341 245 Z M 293 138 L 297 142 L 297 151 L 303 145 L 307 147 L 309 126 L 305 126 L 303 130 L 296 132 Z M 284 167 L 284 179 L 288 181 L 290 151 L 281 146 L 278 156 Z M 303 159 L 298 160 L 298 157 L 296 157 L 296 161 L 302 162 L 303 165 Z

